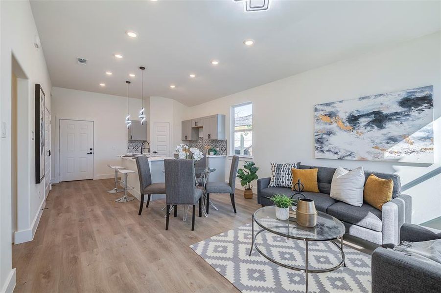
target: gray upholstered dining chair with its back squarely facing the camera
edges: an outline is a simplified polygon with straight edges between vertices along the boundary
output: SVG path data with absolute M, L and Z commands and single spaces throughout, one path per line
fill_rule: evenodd
M 174 206 L 174 216 L 178 215 L 178 205 L 192 205 L 191 230 L 194 230 L 196 203 L 199 202 L 199 216 L 202 217 L 202 190 L 195 186 L 193 160 L 164 160 L 165 203 L 167 213 L 165 230 L 168 230 L 170 205 Z

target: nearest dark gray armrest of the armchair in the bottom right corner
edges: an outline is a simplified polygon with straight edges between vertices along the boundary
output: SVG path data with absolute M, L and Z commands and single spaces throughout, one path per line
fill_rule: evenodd
M 398 253 L 377 248 L 372 253 L 372 293 L 440 292 L 440 266 Z

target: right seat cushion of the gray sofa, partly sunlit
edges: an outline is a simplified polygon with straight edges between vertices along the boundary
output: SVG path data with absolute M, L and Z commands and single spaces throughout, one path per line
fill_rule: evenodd
M 342 202 L 337 202 L 327 209 L 327 213 L 340 221 L 355 224 L 360 227 L 381 232 L 381 210 L 364 203 L 361 207 L 354 207 Z

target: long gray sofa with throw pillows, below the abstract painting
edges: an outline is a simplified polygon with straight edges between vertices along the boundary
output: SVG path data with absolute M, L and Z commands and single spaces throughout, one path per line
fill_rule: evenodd
M 396 174 L 365 171 L 365 180 L 370 174 L 383 179 L 394 181 L 392 200 L 383 205 L 382 210 L 375 209 L 364 203 L 361 207 L 354 207 L 337 201 L 329 196 L 331 181 L 335 168 L 300 165 L 300 169 L 318 168 L 317 181 L 319 191 L 303 192 L 314 200 L 317 210 L 325 212 L 342 221 L 346 233 L 382 245 L 393 247 L 399 242 L 399 230 L 403 223 L 411 222 L 412 198 L 401 194 L 400 177 Z M 273 203 L 267 197 L 276 193 L 293 194 L 291 188 L 268 187 L 270 178 L 257 180 L 257 202 L 262 206 L 271 206 Z

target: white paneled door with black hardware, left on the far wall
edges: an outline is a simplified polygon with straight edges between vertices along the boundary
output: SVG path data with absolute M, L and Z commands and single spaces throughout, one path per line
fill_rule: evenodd
M 60 119 L 60 182 L 93 179 L 93 121 Z

